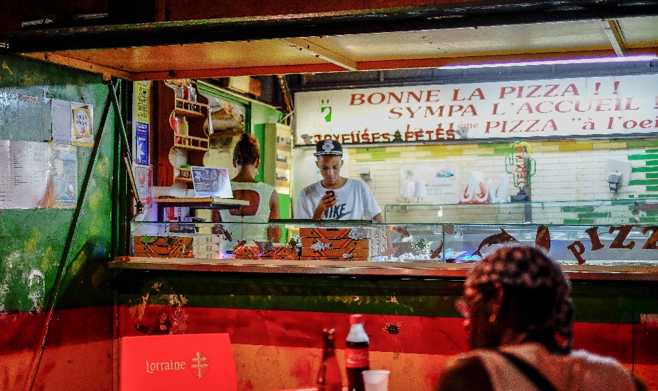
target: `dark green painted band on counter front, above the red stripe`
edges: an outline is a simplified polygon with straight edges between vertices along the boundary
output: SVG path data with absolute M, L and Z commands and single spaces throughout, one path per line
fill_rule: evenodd
M 190 307 L 450 318 L 460 317 L 454 303 L 463 294 L 460 278 L 122 270 L 119 304 L 142 303 L 154 286 L 162 301 L 149 298 L 151 304 L 168 305 L 174 293 L 186 297 L 184 306 Z M 639 312 L 658 312 L 653 282 L 572 281 L 571 298 L 581 323 L 631 324 L 639 321 Z

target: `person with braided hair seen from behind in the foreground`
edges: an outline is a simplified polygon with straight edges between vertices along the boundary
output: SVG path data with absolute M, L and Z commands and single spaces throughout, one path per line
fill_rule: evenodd
M 477 264 L 456 307 L 473 351 L 436 391 L 645 391 L 616 360 L 571 351 L 570 281 L 539 249 L 502 247 Z

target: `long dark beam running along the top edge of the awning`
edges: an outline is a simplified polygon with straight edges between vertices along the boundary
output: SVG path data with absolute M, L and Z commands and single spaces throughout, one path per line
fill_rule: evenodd
M 15 31 L 0 35 L 0 49 L 5 53 L 34 53 L 658 16 L 658 0 L 486 4 Z

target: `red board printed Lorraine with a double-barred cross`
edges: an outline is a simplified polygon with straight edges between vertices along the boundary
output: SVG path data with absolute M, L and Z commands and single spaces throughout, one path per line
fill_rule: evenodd
M 237 391 L 228 334 L 121 339 L 121 391 Z

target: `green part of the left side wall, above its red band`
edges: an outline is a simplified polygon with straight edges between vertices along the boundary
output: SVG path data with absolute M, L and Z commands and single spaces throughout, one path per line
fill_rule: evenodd
M 0 140 L 51 140 L 51 99 L 93 104 L 97 134 L 108 98 L 108 87 L 102 84 L 98 75 L 13 56 L 0 56 L 0 62 L 0 94 L 8 97 L 0 101 Z M 12 103 L 13 97 L 20 99 L 24 96 L 42 102 L 33 104 L 36 107 L 32 110 L 22 110 L 30 114 L 27 118 L 16 116 Z M 91 151 L 89 147 L 77 147 L 78 190 Z M 86 301 L 85 305 L 111 303 L 103 263 L 109 259 L 111 249 L 113 172 L 114 114 L 111 111 L 87 197 L 83 201 L 71 254 L 66 260 L 69 270 L 62 286 L 64 290 L 80 289 L 80 280 L 73 276 L 83 269 L 95 273 L 95 284 L 105 289 L 86 292 L 75 300 L 78 303 Z M 27 298 L 27 277 L 32 270 L 40 270 L 45 276 L 47 290 L 51 288 L 72 216 L 72 209 L 0 210 L 0 286 L 7 287 L 0 291 L 0 310 L 14 312 L 32 308 L 33 303 Z M 95 266 L 90 266 L 89 262 Z M 103 270 L 97 270 L 99 267 Z M 61 302 L 62 306 L 70 304 Z

